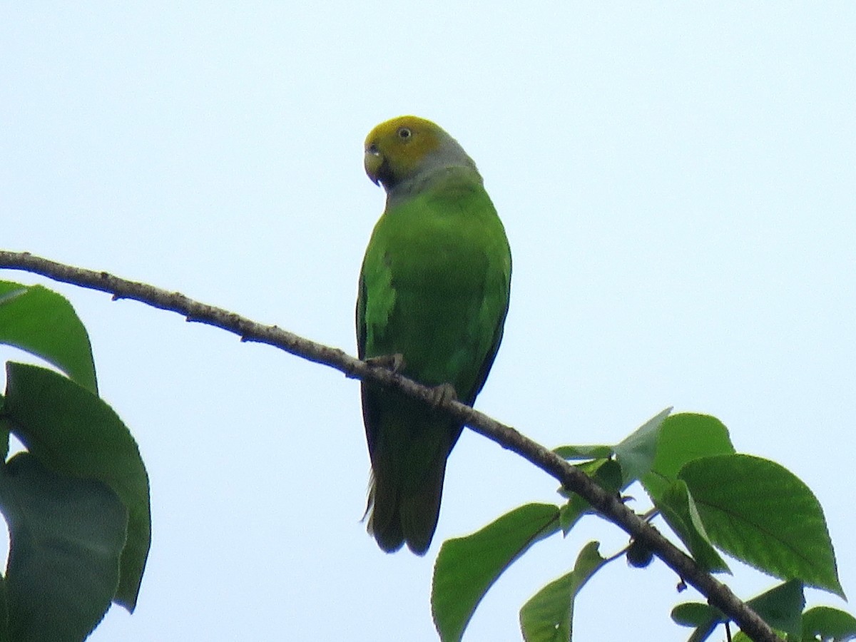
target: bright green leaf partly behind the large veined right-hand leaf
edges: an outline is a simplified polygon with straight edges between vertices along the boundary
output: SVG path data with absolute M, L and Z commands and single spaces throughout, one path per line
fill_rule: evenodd
M 731 455 L 734 446 L 728 429 L 707 414 L 679 413 L 668 417 L 660 428 L 657 456 L 651 471 L 642 477 L 645 491 L 655 502 L 678 479 L 688 461 L 711 455 Z

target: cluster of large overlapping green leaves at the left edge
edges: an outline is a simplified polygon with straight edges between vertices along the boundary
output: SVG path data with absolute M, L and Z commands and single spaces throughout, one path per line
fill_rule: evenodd
M 111 602 L 134 610 L 151 540 L 146 468 L 98 397 L 92 349 L 72 306 L 0 282 L 0 343 L 56 366 L 6 364 L 0 395 L 0 642 L 85 639 Z M 9 434 L 26 450 L 9 457 Z

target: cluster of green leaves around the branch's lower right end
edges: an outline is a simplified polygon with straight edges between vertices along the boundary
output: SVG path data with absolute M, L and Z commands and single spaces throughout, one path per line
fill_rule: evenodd
M 784 580 L 748 600 L 758 615 L 788 642 L 856 638 L 856 619 L 829 607 L 805 609 L 803 586 L 844 597 L 823 510 L 811 490 L 774 463 L 735 452 L 728 430 L 714 417 L 669 410 L 615 446 L 563 446 L 556 454 L 577 461 L 604 490 L 621 493 L 638 482 L 655 509 L 704 570 L 730 573 L 727 553 Z M 562 505 L 527 504 L 479 532 L 443 543 L 434 568 L 431 607 L 444 642 L 460 640 L 484 594 L 533 544 L 567 535 L 591 507 L 562 489 Z M 626 556 L 636 567 L 651 562 L 651 550 L 631 542 L 605 558 L 589 542 L 574 568 L 544 586 L 520 609 L 526 642 L 560 642 L 573 636 L 574 598 L 600 568 Z M 673 620 L 693 627 L 701 642 L 728 622 L 707 603 L 682 603 Z M 747 639 L 738 633 L 735 639 Z

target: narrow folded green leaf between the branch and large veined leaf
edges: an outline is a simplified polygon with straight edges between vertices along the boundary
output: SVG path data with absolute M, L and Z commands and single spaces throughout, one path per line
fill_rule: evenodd
M 663 520 L 666 520 L 675 534 L 681 538 L 681 542 L 687 546 L 687 550 L 698 562 L 698 566 L 710 573 L 730 573 L 728 564 L 710 543 L 693 496 L 690 495 L 684 481 L 678 479 L 670 484 L 655 503 Z

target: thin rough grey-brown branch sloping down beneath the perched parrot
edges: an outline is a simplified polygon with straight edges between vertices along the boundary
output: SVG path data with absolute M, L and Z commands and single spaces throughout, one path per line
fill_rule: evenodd
M 330 348 L 321 343 L 312 342 L 302 336 L 297 336 L 276 325 L 257 324 L 248 318 L 241 317 L 215 306 L 208 306 L 187 298 L 178 292 L 167 292 L 146 283 L 128 281 L 112 276 L 107 272 L 84 270 L 70 265 L 63 265 L 48 259 L 33 256 L 30 253 L 7 252 L 0 250 L 0 268 L 26 270 L 55 281 L 72 283 L 83 288 L 92 288 L 113 295 L 113 299 L 133 299 L 149 306 L 178 312 L 188 321 L 213 325 L 241 337 L 241 341 L 267 343 L 275 348 L 281 348 L 290 354 L 303 359 L 315 361 L 336 368 L 347 377 L 372 381 L 392 389 L 401 390 L 404 394 L 425 403 L 436 403 L 436 396 L 430 388 L 401 377 L 401 375 L 382 367 L 370 366 L 364 361 L 354 359 L 338 348 Z M 572 490 L 586 499 L 591 506 L 615 525 L 620 526 L 632 538 L 645 544 L 654 551 L 669 568 L 681 577 L 681 580 L 694 586 L 710 604 L 716 606 L 732 618 L 746 635 L 756 642 L 781 642 L 752 609 L 746 606 L 740 598 L 710 574 L 705 573 L 693 559 L 678 549 L 667 538 L 647 523 L 638 514 L 627 508 L 621 498 L 610 495 L 595 484 L 579 468 L 571 466 L 559 455 L 545 448 L 532 439 L 515 431 L 514 428 L 491 419 L 472 407 L 458 401 L 441 401 L 438 408 L 448 413 L 450 417 L 460 420 L 473 431 L 498 443 L 502 448 L 513 450 L 524 459 L 541 468 L 545 473 L 557 479 L 564 488 Z

